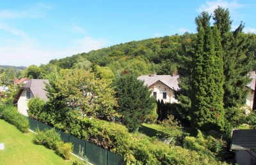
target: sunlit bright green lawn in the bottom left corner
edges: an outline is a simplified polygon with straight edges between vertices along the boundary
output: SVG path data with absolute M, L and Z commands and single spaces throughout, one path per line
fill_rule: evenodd
M 42 145 L 33 143 L 33 133 L 21 133 L 15 126 L 0 119 L 0 164 L 72 164 Z

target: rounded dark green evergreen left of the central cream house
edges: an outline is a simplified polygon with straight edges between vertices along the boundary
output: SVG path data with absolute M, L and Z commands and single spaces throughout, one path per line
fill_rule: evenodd
M 133 132 L 143 123 L 143 118 L 153 110 L 156 100 L 141 80 L 134 75 L 123 75 L 114 82 L 122 123 Z

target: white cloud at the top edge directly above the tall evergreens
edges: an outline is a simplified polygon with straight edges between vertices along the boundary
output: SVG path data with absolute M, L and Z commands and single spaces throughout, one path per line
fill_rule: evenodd
M 206 1 L 206 4 L 202 4 L 200 8 L 197 10 L 198 12 L 208 11 L 209 13 L 213 13 L 213 11 L 221 6 L 223 8 L 228 8 L 230 11 L 234 11 L 237 8 L 241 8 L 244 4 L 239 4 L 236 1 L 225 1 L 225 0 L 217 0 L 217 1 Z

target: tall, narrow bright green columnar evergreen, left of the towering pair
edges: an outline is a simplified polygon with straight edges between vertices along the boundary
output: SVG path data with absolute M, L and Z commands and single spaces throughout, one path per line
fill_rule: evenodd
M 194 128 L 221 129 L 224 125 L 223 62 L 220 34 L 211 29 L 210 16 L 196 18 L 198 29 L 192 60 L 191 125 Z

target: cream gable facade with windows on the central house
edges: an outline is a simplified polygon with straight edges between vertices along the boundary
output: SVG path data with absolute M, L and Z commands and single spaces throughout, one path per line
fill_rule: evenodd
M 152 90 L 151 96 L 155 95 L 156 100 L 161 101 L 163 99 L 164 103 L 178 103 L 178 100 L 175 99 L 174 90 L 164 83 L 158 81 L 150 85 L 149 88 Z

